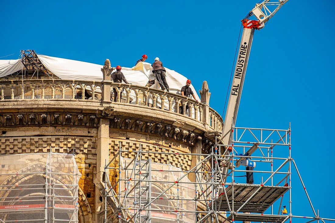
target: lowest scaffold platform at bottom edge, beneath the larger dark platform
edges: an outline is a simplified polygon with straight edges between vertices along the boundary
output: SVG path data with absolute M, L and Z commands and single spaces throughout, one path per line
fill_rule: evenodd
M 250 222 L 273 222 L 281 223 L 286 220 L 287 215 L 263 215 L 263 214 L 247 214 L 238 213 L 234 215 L 234 221 L 250 221 Z M 232 216 L 229 216 L 227 220 L 231 220 Z

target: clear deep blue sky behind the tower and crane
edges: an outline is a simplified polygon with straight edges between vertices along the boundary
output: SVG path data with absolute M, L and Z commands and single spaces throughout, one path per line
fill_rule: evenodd
M 256 1 L 4 1 L 0 57 L 48 56 L 132 67 L 142 54 L 207 80 L 223 113 L 241 22 Z M 315 209 L 335 218 L 334 1 L 290 0 L 255 31 L 236 126 L 287 129 Z M 9 58 L 16 59 L 18 54 Z M 293 214 L 312 216 L 293 174 Z M 304 214 L 305 211 L 305 214 Z

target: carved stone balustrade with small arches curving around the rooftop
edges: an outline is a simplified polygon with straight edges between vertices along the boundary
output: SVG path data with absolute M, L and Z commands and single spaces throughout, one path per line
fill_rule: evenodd
M 106 87 L 108 86 L 108 87 Z M 110 94 L 104 92 L 108 89 Z M 114 101 L 114 91 L 116 101 Z M 105 98 L 102 99 L 102 93 Z M 121 95 L 121 97 L 120 97 Z M 0 102 L 17 100 L 66 100 L 92 101 L 104 104 L 128 104 L 161 111 L 205 123 L 209 128 L 221 131 L 222 118 L 208 104 L 171 92 L 148 87 L 113 83 L 111 81 L 83 81 L 60 79 L 4 80 L 0 81 Z M 207 111 L 206 111 L 207 107 Z

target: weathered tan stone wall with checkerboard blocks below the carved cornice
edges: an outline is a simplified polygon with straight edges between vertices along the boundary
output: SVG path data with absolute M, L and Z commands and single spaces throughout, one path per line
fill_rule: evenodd
M 94 177 L 97 173 L 98 128 L 69 127 L 69 126 L 13 126 L 0 130 L 0 153 L 38 153 L 52 152 L 75 153 L 75 160 L 80 171 L 79 180 L 79 215 L 80 222 L 94 222 L 96 194 Z M 110 129 L 109 134 L 109 159 L 119 150 L 121 145 L 125 158 L 133 158 L 136 151 L 141 148 L 145 153 L 142 159 L 151 158 L 152 162 L 172 164 L 182 170 L 191 167 L 191 155 L 166 155 L 154 152 L 190 153 L 192 145 L 171 138 L 138 133 L 127 130 Z M 108 160 L 107 160 L 108 162 Z M 117 173 L 111 171 L 111 181 L 115 182 Z M 102 207 L 99 209 L 102 210 Z

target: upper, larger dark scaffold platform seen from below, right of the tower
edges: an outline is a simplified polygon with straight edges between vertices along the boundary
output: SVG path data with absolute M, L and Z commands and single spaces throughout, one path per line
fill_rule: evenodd
M 258 190 L 241 210 L 239 210 L 240 212 L 249 213 L 263 213 L 289 189 L 288 184 L 285 184 L 284 186 L 261 186 L 260 184 L 236 183 L 233 186 L 234 187 L 229 185 L 225 190 L 230 210 L 234 211 L 240 209 L 250 196 Z M 234 190 L 232 190 L 232 188 L 234 188 Z M 234 208 L 232 207 L 232 198 L 234 198 Z M 223 189 L 220 189 L 219 197 L 214 201 L 214 207 L 217 211 L 230 211 Z

